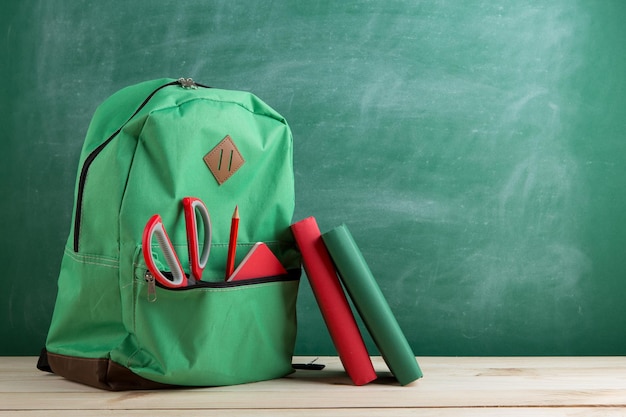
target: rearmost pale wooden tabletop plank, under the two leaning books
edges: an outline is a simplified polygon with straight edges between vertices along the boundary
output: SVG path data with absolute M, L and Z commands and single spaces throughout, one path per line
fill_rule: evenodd
M 308 361 L 309 358 L 300 360 Z M 623 388 L 626 385 L 626 358 L 623 357 L 600 357 L 600 358 L 420 358 L 420 364 L 424 369 L 425 377 L 416 385 L 436 387 L 445 382 L 446 384 L 458 383 L 465 386 L 467 380 L 473 383 L 480 382 L 486 386 L 507 379 L 507 388 L 511 383 L 516 385 L 532 385 L 539 388 L 547 385 L 553 388 L 555 382 L 566 379 L 569 385 L 583 385 L 584 388 L 605 388 L 607 383 L 613 388 Z M 300 390 L 302 383 L 311 383 L 309 389 L 326 389 L 326 384 L 334 386 L 352 386 L 341 363 L 337 358 L 320 358 L 320 363 L 327 365 L 322 372 L 298 371 L 297 373 L 274 381 L 261 382 L 265 390 Z M 373 362 L 379 374 L 379 380 L 374 386 L 397 386 L 391 378 L 391 374 L 384 366 L 379 357 L 373 358 Z M 26 387 L 16 385 L 15 381 L 27 381 Z M 52 383 L 54 381 L 54 383 Z M 296 382 L 296 383 L 294 383 Z M 214 387 L 212 391 L 241 391 L 249 389 L 250 385 L 231 387 Z M 37 392 L 59 389 L 63 391 L 100 392 L 90 387 L 73 384 L 56 375 L 39 372 L 35 369 L 32 358 L 0 358 L 0 392 L 22 391 L 28 388 Z M 408 389 L 410 387 L 405 387 Z M 424 389 L 424 388 L 422 388 Z M 22 391 L 23 392 L 23 391 Z

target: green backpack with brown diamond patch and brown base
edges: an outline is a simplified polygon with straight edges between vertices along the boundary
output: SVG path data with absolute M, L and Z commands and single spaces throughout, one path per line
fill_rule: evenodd
M 292 146 L 286 121 L 254 95 L 191 79 L 140 83 L 103 102 L 80 158 L 40 369 L 110 390 L 231 385 L 292 372 L 300 278 L 289 230 Z M 191 219 L 205 226 L 197 231 L 204 272 L 193 279 L 200 248 L 189 248 L 187 197 L 210 215 Z M 225 280 L 236 206 L 237 262 L 264 242 L 286 274 Z M 144 253 L 155 214 L 169 240 L 149 239 Z M 188 285 L 170 288 L 149 273 L 153 259 L 173 275 L 165 243 Z

